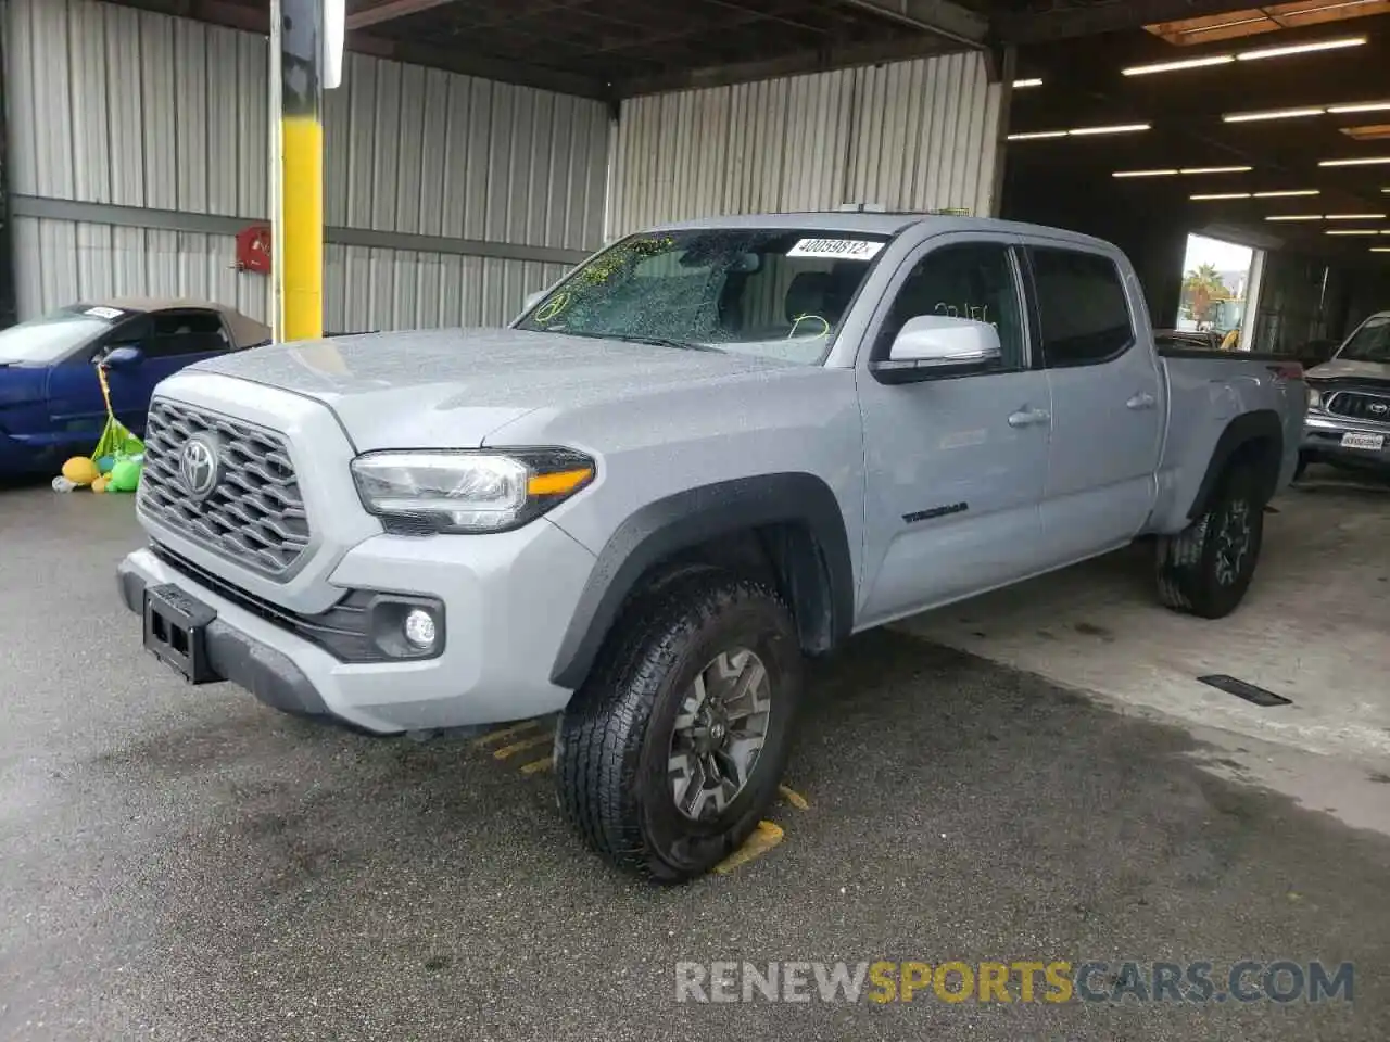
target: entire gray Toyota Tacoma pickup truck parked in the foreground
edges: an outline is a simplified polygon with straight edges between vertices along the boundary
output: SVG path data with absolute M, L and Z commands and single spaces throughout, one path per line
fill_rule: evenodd
M 190 682 L 373 734 L 560 713 L 560 804 L 651 878 L 774 797 L 803 659 L 1156 536 L 1241 600 L 1301 370 L 1159 350 L 1068 232 L 796 214 L 634 235 L 506 329 L 268 347 L 163 382 L 120 565 Z

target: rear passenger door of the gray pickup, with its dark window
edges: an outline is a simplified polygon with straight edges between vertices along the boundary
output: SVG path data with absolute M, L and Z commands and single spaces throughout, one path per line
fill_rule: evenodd
M 1027 256 L 1052 396 L 1042 536 L 1049 564 L 1066 564 L 1123 546 L 1148 520 L 1163 382 L 1138 286 L 1113 256 L 1041 243 Z

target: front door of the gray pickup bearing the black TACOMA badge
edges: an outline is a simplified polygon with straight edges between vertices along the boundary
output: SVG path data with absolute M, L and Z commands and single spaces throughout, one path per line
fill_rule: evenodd
M 859 620 L 881 622 L 1038 568 L 1047 374 L 1031 365 L 1022 257 L 1009 238 L 929 240 L 885 297 L 872 360 L 916 315 L 990 322 L 997 368 L 885 385 L 860 358 L 866 559 Z

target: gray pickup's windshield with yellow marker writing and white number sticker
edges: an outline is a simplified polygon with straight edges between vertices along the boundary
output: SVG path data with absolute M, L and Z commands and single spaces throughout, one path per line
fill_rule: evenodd
M 887 240 L 769 228 L 635 235 L 580 267 L 517 328 L 816 365 Z

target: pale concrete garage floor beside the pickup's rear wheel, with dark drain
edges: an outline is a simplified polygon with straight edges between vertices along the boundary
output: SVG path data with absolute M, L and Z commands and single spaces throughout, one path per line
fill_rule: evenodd
M 1390 482 L 1311 468 L 1266 514 L 1255 581 L 1225 620 L 1155 611 L 1151 561 L 1148 546 L 1134 546 L 902 628 L 1126 711 L 1340 763 L 1390 760 Z M 1293 704 L 1261 709 L 1197 681 L 1209 674 Z M 1300 795 L 1269 760 L 1248 770 Z M 1343 799 L 1339 813 L 1390 832 L 1384 795 Z

